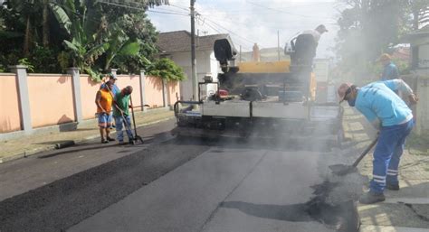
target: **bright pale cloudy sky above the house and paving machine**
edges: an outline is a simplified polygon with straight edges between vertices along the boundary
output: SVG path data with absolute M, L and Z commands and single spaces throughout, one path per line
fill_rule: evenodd
M 190 32 L 189 0 L 170 0 L 170 5 L 157 6 L 148 17 L 159 32 L 186 30 Z M 317 58 L 330 58 L 338 32 L 338 1 L 335 0 L 196 0 L 198 13 L 195 30 L 200 35 L 229 33 L 234 46 L 252 51 L 284 46 L 297 33 L 325 24 L 329 32 L 319 41 Z M 195 31 L 196 32 L 196 31 Z

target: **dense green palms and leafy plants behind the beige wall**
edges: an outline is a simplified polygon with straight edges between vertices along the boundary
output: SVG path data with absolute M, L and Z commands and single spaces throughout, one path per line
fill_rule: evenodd
M 96 79 L 113 66 L 137 72 L 157 52 L 157 32 L 144 11 L 164 4 L 168 1 L 129 3 L 141 11 L 101 0 L 5 0 L 0 6 L 0 64 L 7 67 L 25 58 L 34 71 L 46 72 L 74 65 Z

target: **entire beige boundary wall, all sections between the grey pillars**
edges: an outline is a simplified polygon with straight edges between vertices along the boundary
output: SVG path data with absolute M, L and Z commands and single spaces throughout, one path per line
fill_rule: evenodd
M 81 111 L 83 119 L 95 118 L 97 107 L 95 95 L 100 83 L 81 74 Z M 27 76 L 28 95 L 33 128 L 45 125 L 59 125 L 75 121 L 71 75 L 29 74 Z M 141 106 L 140 78 L 138 75 L 119 75 L 119 88 L 132 86 L 134 106 Z M 0 73 L 0 133 L 21 130 L 21 113 L 16 76 L 13 73 Z M 169 105 L 180 96 L 178 83 L 167 85 Z M 162 80 L 146 77 L 145 97 L 150 107 L 163 107 Z M 138 108 L 137 108 L 138 110 Z

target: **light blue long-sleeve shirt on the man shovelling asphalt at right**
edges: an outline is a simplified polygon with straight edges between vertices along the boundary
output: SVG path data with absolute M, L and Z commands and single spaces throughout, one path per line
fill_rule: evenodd
M 411 95 L 413 91 L 402 79 L 377 81 L 358 89 L 355 107 L 377 127 L 400 125 L 413 118 L 412 111 L 394 91 Z

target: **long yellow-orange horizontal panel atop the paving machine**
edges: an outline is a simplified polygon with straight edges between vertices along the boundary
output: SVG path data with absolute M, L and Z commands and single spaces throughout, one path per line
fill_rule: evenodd
M 291 60 L 272 62 L 248 61 L 238 63 L 241 73 L 283 73 L 290 72 Z

